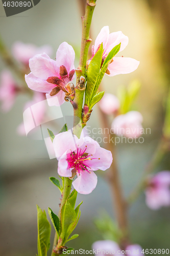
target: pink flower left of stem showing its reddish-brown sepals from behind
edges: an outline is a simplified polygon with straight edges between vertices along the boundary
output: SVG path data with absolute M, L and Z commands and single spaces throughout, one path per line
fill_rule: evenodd
M 37 54 L 29 61 L 31 73 L 26 75 L 28 87 L 34 91 L 47 93 L 47 99 L 57 95 L 59 104 L 65 102 L 65 93 L 70 93 L 70 81 L 75 73 L 75 51 L 63 42 L 56 54 L 56 60 L 46 53 Z

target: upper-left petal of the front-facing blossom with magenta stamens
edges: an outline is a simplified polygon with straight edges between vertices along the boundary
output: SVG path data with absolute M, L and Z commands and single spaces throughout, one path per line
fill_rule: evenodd
M 53 140 L 53 146 L 57 159 L 66 153 L 67 150 L 70 152 L 76 150 L 75 140 L 70 131 L 57 134 Z

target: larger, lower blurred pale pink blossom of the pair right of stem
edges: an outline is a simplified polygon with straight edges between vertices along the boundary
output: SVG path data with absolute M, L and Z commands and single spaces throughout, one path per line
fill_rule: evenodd
M 143 117 L 138 111 L 129 111 L 124 115 L 116 116 L 111 124 L 113 132 L 120 136 L 139 137 L 142 134 Z

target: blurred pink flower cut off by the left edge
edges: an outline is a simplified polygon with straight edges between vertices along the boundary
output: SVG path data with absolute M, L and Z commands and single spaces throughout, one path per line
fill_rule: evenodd
M 2 100 L 2 110 L 4 112 L 8 112 L 12 109 L 16 98 L 16 91 L 16 83 L 11 72 L 8 70 L 2 71 L 0 81 L 0 100 Z

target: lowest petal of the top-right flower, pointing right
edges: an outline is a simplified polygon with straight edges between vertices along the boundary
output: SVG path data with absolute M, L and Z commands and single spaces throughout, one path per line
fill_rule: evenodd
M 110 75 L 115 76 L 119 74 L 128 74 L 137 69 L 139 66 L 139 61 L 132 58 L 125 57 L 114 57 L 113 62 L 108 66 L 108 70 L 110 71 Z

